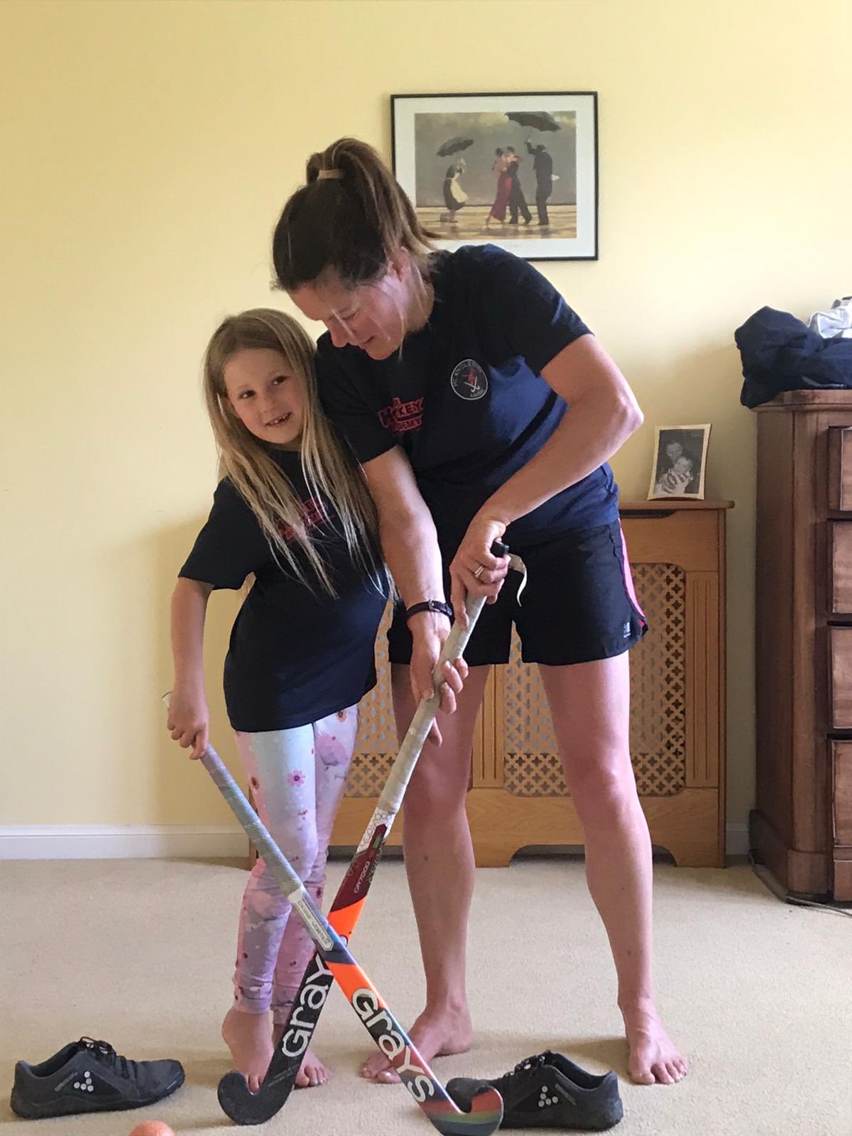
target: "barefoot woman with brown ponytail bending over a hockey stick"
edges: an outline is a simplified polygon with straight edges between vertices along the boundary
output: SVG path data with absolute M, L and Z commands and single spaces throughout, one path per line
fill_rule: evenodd
M 320 396 L 362 462 L 401 594 L 389 633 L 400 733 L 432 691 L 450 617 L 466 618 L 465 594 L 492 603 L 466 650 L 469 675 L 462 668 L 442 687 L 443 744 L 420 760 L 406 796 L 426 972 L 411 1036 L 427 1060 L 470 1045 L 465 795 L 488 666 L 507 661 L 515 623 L 525 661 L 541 667 L 584 827 L 630 1076 L 671 1084 L 686 1062 L 653 1001 L 651 844 L 628 746 L 626 651 L 645 624 L 605 463 L 642 415 L 616 365 L 529 264 L 493 245 L 433 253 L 431 235 L 376 152 L 342 139 L 310 158 L 273 243 L 281 286 L 328 329 Z M 528 568 L 523 607 L 516 585 L 501 591 L 507 561 L 488 551 L 502 536 Z M 381 1055 L 365 1075 L 393 1077 Z

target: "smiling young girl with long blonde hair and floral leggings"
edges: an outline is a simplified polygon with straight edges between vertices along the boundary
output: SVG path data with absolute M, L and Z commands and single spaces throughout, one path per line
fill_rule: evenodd
M 294 320 L 266 309 L 226 319 L 207 349 L 204 394 L 225 476 L 172 600 L 168 728 L 193 758 L 203 754 L 207 601 L 214 588 L 239 588 L 253 575 L 231 633 L 225 702 L 260 817 L 321 903 L 357 703 L 376 682 L 387 587 L 366 482 L 319 409 L 314 351 Z M 258 860 L 240 916 L 234 1004 L 222 1027 L 254 1091 L 311 954 L 290 912 Z M 308 1050 L 296 1085 L 327 1077 Z

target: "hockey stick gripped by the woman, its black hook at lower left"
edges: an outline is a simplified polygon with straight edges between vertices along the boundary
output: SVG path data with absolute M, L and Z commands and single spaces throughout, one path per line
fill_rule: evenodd
M 495 541 L 491 551 L 494 556 L 506 556 L 508 548 Z M 521 573 L 526 570 L 518 557 L 511 558 L 511 567 Z M 468 626 L 462 628 L 454 625 L 446 637 L 433 673 L 436 688 L 443 682 L 444 662 L 458 659 L 463 652 L 484 602 L 482 596 L 468 596 Z M 431 699 L 424 699 L 417 708 L 382 795 L 332 903 L 328 922 L 345 941 L 351 937 L 361 914 L 373 874 L 402 804 L 437 705 L 438 695 L 435 693 Z M 310 1045 L 333 980 L 332 972 L 323 964 L 320 953 L 316 952 L 304 972 L 284 1033 L 258 1092 L 252 1093 L 243 1075 L 236 1070 L 226 1074 L 219 1081 L 219 1104 L 232 1120 L 241 1125 L 262 1124 L 283 1108 L 295 1084 L 302 1058 Z

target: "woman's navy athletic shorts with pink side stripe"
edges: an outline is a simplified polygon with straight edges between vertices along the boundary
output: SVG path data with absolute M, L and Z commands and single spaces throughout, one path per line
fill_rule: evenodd
M 623 654 L 645 634 L 618 521 L 511 551 L 527 567 L 520 603 L 520 577 L 510 571 L 496 603 L 483 608 L 465 649 L 468 666 L 508 662 L 512 624 L 524 662 L 551 667 Z M 449 574 L 444 587 L 449 596 Z M 411 633 L 401 607 L 387 630 L 387 646 L 391 662 L 411 661 Z

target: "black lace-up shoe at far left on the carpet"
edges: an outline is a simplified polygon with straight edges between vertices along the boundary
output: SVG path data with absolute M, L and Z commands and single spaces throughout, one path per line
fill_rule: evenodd
M 128 1061 L 106 1042 L 81 1037 L 41 1064 L 18 1061 L 11 1106 L 27 1120 L 141 1109 L 174 1093 L 184 1076 L 179 1061 Z

